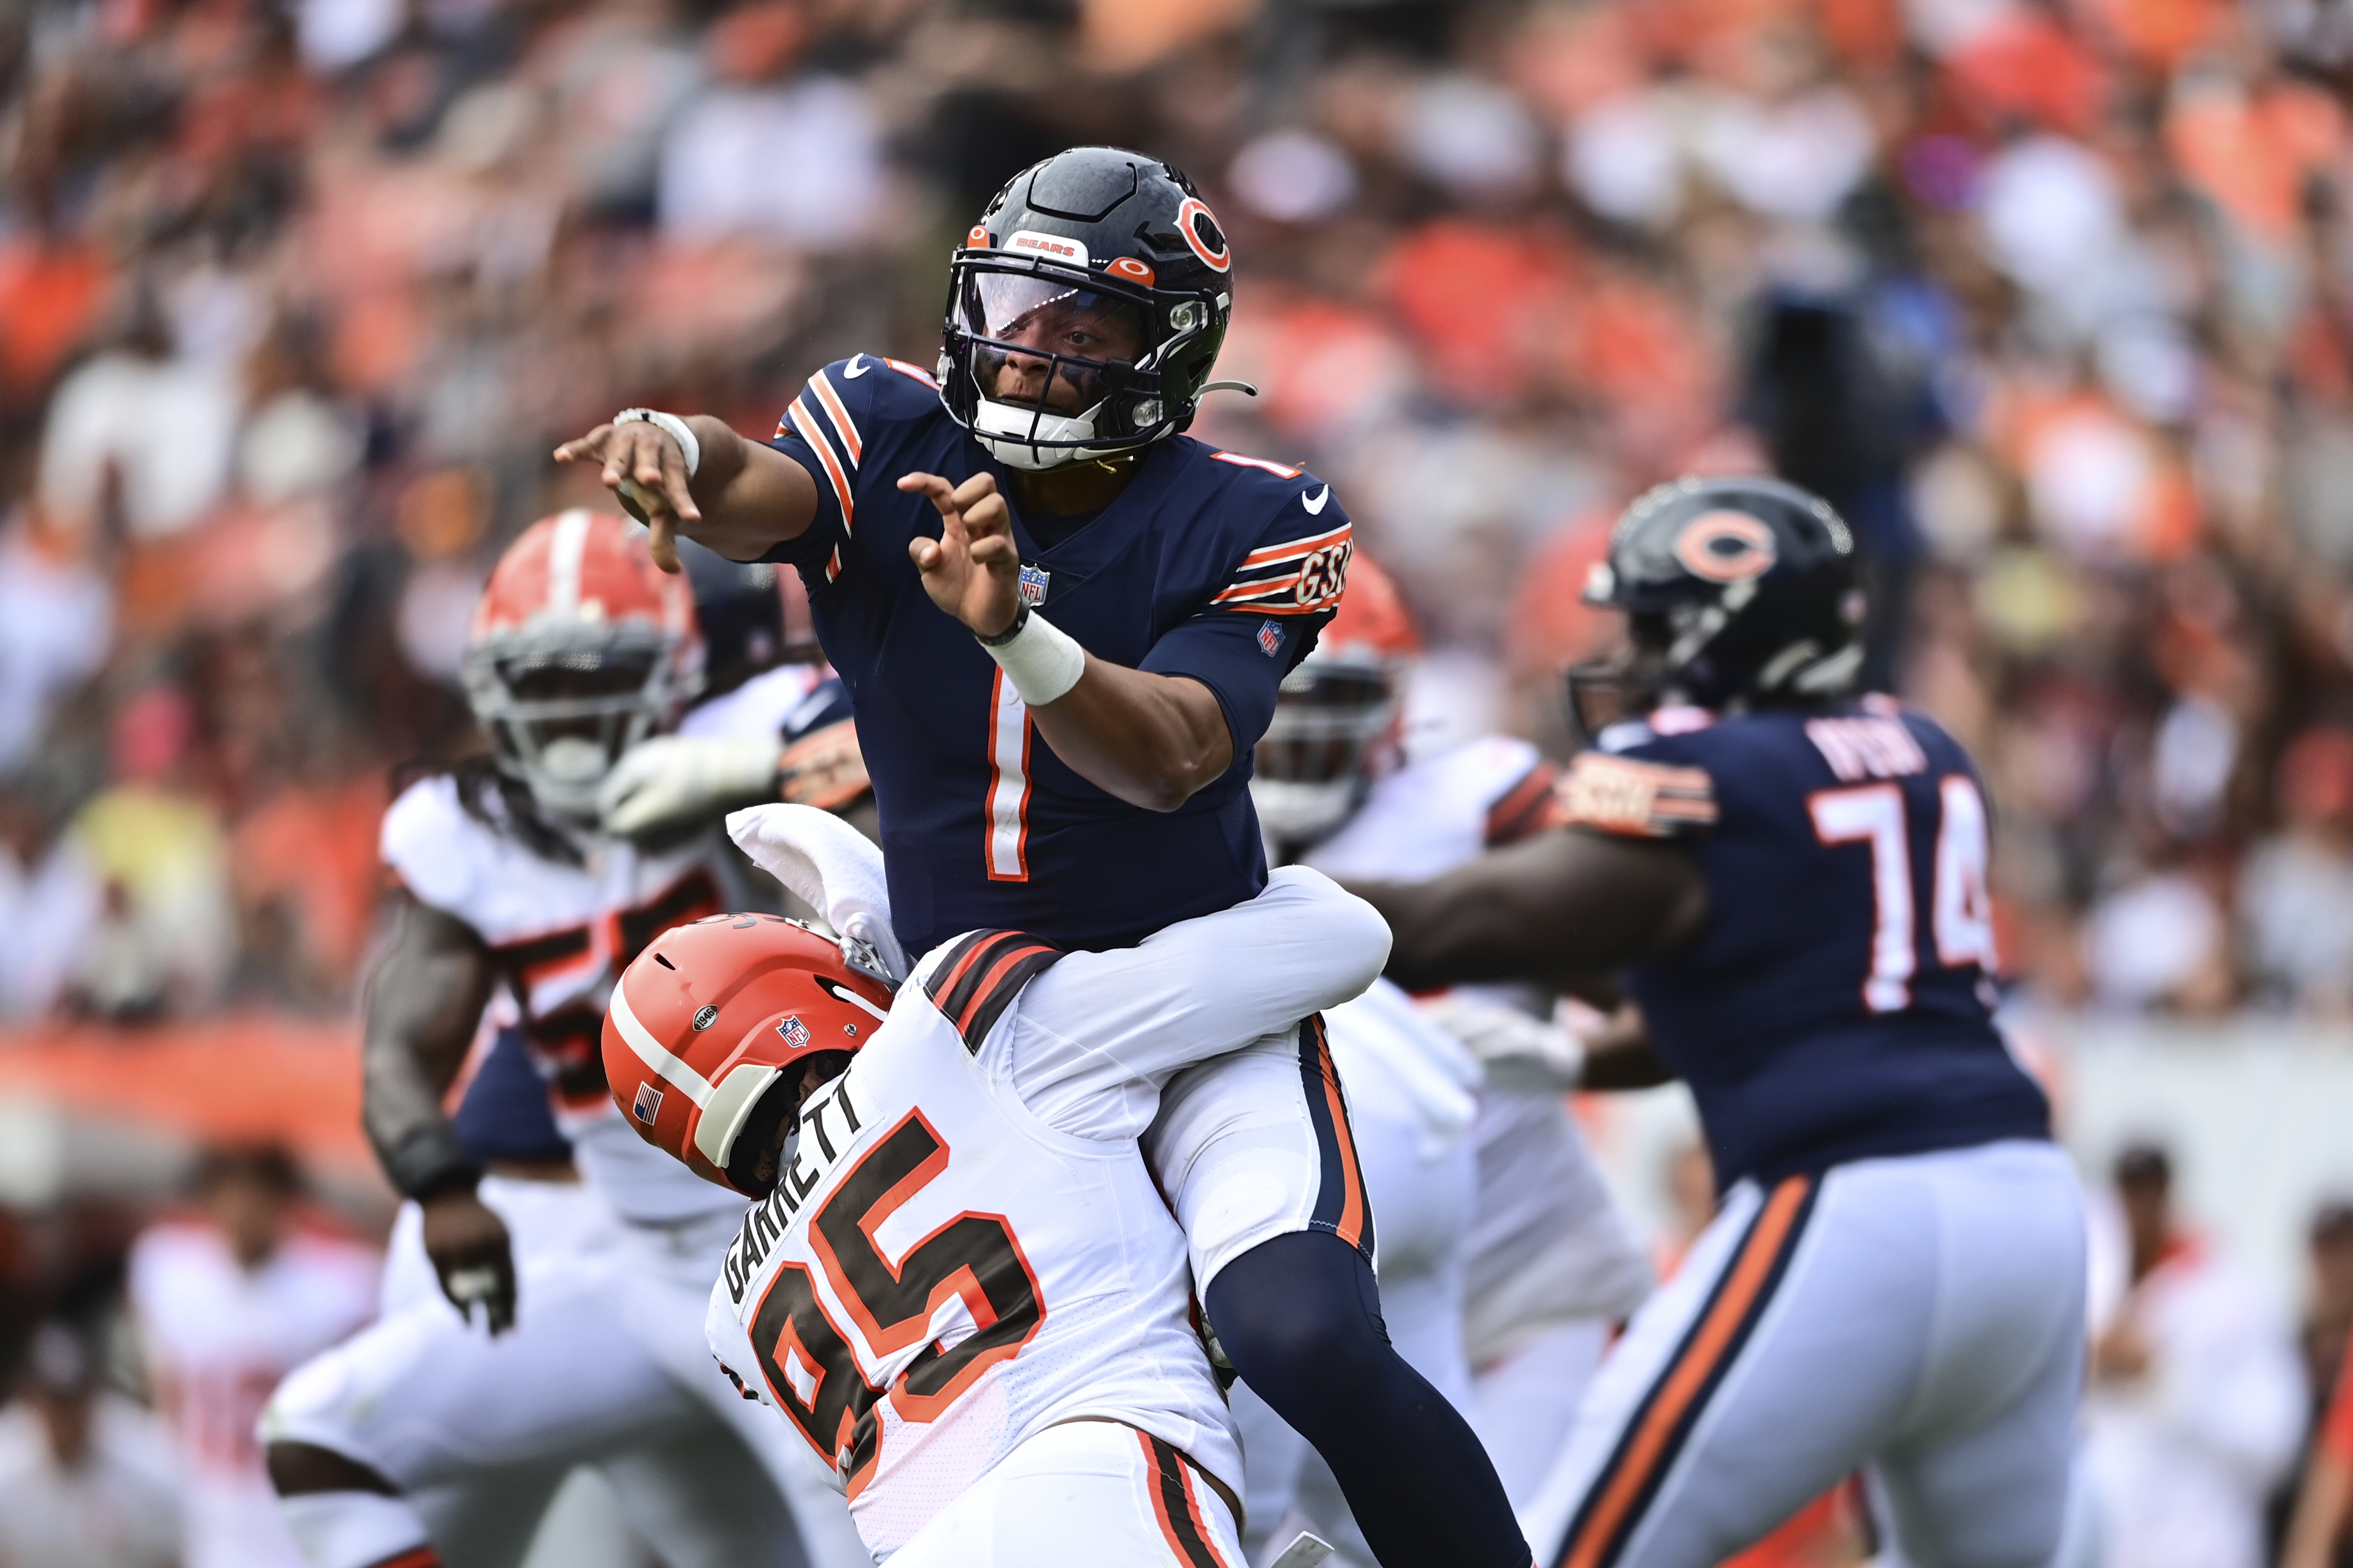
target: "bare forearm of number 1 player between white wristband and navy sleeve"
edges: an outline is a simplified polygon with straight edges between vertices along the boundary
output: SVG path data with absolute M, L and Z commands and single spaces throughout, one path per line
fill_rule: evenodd
M 1031 717 L 1080 778 L 1146 811 L 1174 811 L 1233 766 L 1226 710 L 1184 675 L 1087 658 L 1078 684 Z

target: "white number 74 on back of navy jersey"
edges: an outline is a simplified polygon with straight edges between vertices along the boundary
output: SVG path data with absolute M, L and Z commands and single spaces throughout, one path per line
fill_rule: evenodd
M 1929 931 L 1946 969 L 1977 964 L 1995 971 L 1993 896 L 1986 891 L 1986 799 L 1967 773 L 1937 780 L 1937 886 Z M 1824 844 L 1871 844 L 1871 976 L 1864 1006 L 1899 1013 L 1911 1006 L 1918 964 L 1918 914 L 1911 877 L 1911 823 L 1904 788 L 1894 783 L 1821 790 L 1807 799 Z

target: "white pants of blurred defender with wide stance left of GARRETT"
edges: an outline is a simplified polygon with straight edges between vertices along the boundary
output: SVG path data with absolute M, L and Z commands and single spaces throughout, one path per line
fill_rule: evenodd
M 513 1568 L 574 1465 L 605 1474 L 671 1568 L 871 1563 L 824 1467 L 704 1345 L 732 1215 L 659 1229 L 579 1182 L 485 1178 L 480 1194 L 508 1225 L 515 1328 L 492 1340 L 421 1288 L 405 1211 L 386 1298 L 407 1305 L 296 1368 L 266 1441 L 386 1476 L 449 1568 Z

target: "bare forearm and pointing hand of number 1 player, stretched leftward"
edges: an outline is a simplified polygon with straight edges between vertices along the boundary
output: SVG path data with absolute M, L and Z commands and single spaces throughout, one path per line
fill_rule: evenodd
M 694 477 L 668 430 L 645 421 L 598 425 L 555 449 L 558 463 L 598 463 L 598 480 L 652 529 L 647 541 L 664 571 L 678 571 L 678 545 L 711 545 L 732 562 L 755 562 L 816 520 L 816 482 L 774 447 L 748 442 L 727 421 L 689 414 L 701 447 Z

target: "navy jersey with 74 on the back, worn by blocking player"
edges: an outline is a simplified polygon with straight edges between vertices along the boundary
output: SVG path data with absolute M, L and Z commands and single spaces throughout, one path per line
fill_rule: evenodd
M 1628 990 L 1720 1182 L 2049 1135 L 1993 1027 L 1986 797 L 1934 722 L 1887 698 L 1671 708 L 1607 731 L 1560 797 L 1708 879 L 1706 924 Z

